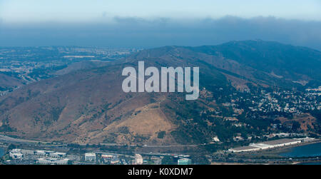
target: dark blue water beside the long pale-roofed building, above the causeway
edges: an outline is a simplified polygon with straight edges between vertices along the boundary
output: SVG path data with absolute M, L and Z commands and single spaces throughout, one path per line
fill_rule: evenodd
M 309 145 L 297 146 L 291 148 L 287 153 L 281 153 L 281 156 L 284 157 L 321 157 L 321 143 L 312 143 Z

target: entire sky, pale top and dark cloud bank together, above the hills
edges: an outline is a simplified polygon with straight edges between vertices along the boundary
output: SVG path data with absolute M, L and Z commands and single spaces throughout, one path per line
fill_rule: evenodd
M 263 39 L 321 50 L 321 0 L 0 0 L 0 46 L 200 46 Z

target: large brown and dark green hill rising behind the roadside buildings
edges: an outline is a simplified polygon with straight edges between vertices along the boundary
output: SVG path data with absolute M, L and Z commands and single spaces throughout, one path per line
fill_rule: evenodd
M 137 68 L 138 61 L 158 68 L 199 66 L 200 98 L 124 93 L 121 71 Z M 0 98 L 0 126 L 6 126 L 2 133 L 68 143 L 205 143 L 219 130 L 205 117 L 221 110 L 230 94 L 253 86 L 321 86 L 320 64 L 320 51 L 266 41 L 153 48 L 108 66 L 61 71 L 9 93 Z

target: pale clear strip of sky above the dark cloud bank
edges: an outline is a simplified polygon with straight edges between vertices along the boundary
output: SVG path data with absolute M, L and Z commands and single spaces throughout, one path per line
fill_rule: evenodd
M 93 21 L 113 16 L 220 18 L 275 16 L 321 21 L 320 0 L 0 0 L 0 17 L 15 21 Z

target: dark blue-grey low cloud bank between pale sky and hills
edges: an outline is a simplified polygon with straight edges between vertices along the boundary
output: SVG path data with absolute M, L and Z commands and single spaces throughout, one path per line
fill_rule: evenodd
M 321 50 L 321 21 L 242 19 L 139 19 L 113 17 L 88 23 L 5 24 L 0 46 L 143 47 L 215 45 L 263 39 Z

